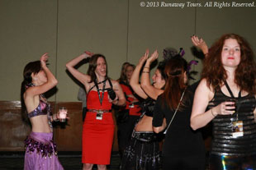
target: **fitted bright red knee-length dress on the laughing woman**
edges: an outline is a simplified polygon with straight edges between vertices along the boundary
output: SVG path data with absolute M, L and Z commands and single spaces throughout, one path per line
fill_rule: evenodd
M 102 92 L 100 94 L 102 97 Z M 101 105 L 97 91 L 89 91 L 88 110 L 111 110 L 112 104 L 108 101 L 107 96 L 107 91 L 105 91 Z M 82 163 L 107 165 L 110 164 L 115 125 L 112 113 L 103 113 L 102 120 L 97 120 L 96 115 L 97 113 L 86 113 L 83 122 Z

